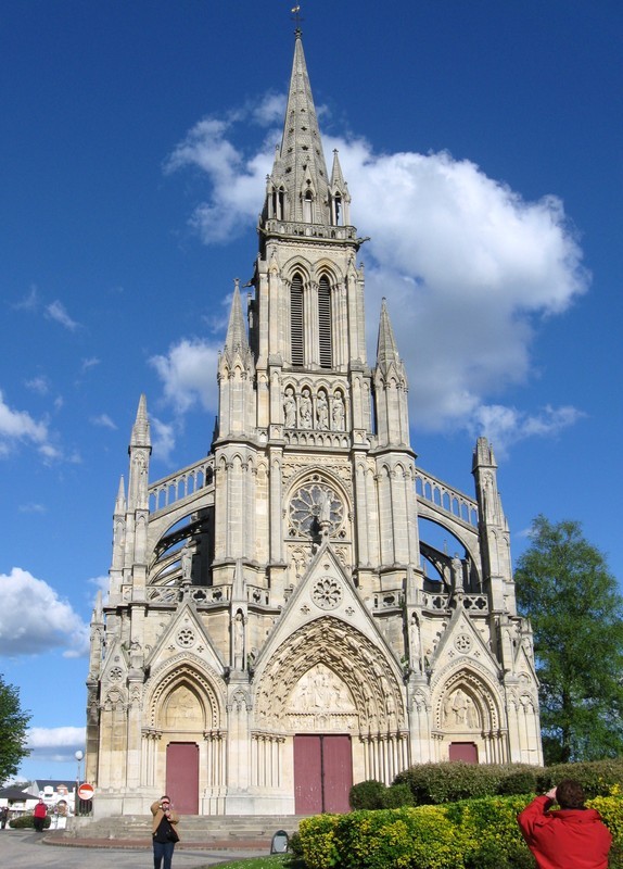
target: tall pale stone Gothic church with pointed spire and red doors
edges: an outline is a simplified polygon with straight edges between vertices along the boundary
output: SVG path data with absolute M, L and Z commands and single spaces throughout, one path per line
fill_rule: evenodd
M 411 764 L 542 763 L 493 450 L 475 444 L 473 498 L 416 463 L 385 302 L 368 363 L 365 239 L 298 29 L 257 229 L 211 452 L 152 482 L 138 405 L 91 622 L 100 816 L 163 792 L 185 814 L 342 811 L 354 782 Z

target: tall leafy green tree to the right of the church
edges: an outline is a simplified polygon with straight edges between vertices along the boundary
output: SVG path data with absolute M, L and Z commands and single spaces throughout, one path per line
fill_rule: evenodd
M 537 516 L 514 579 L 534 631 L 546 764 L 623 754 L 623 597 L 575 521 Z

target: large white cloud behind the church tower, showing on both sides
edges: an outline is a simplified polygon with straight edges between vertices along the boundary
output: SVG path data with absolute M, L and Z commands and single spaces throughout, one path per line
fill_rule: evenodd
M 277 103 L 270 99 L 265 109 L 272 104 L 275 111 L 254 119 L 274 123 Z M 242 111 L 204 118 L 167 162 L 167 171 L 193 167 L 208 182 L 208 197 L 190 218 L 205 243 L 246 229 L 260 209 L 274 159 L 268 142 L 278 137 L 245 152 L 234 140 L 247 119 Z M 532 376 L 532 341 L 544 318 L 564 312 L 588 287 L 561 201 L 544 196 L 526 202 L 448 153 L 378 154 L 364 139 L 326 137 L 326 154 L 333 148 L 353 197 L 352 219 L 371 237 L 364 249 L 368 331 L 376 340 L 386 297 L 407 367 L 412 425 L 495 436 L 498 451 L 572 425 L 581 416 L 573 407 L 530 414 L 499 403 L 505 390 Z M 207 365 L 214 350 L 202 348 Z M 205 369 L 201 378 L 190 377 L 201 353 L 198 344 L 181 342 L 154 361 L 169 400 L 181 388 L 180 412 L 193 396 L 205 403 L 208 394 Z

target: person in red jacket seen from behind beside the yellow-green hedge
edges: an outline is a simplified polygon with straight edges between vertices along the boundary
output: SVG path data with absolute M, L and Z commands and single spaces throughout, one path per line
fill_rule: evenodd
M 550 811 L 555 801 L 560 809 Z M 584 801 L 580 782 L 564 779 L 518 816 L 538 869 L 608 869 L 612 836 L 599 813 L 585 808 Z

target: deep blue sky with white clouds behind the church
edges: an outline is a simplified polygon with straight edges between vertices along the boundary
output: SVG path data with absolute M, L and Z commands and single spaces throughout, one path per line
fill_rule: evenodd
M 15 0 L 0 35 L 0 672 L 24 777 L 73 778 L 87 625 L 141 392 L 152 478 L 211 442 L 232 284 L 252 274 L 292 3 Z M 473 492 L 491 437 L 513 556 L 582 522 L 623 579 L 623 8 L 302 4 L 373 352 L 386 295 L 419 464 Z M 373 358 L 373 357 L 372 357 Z

